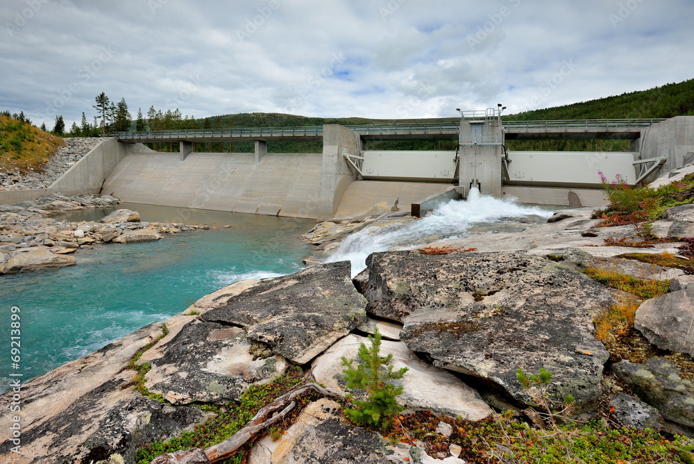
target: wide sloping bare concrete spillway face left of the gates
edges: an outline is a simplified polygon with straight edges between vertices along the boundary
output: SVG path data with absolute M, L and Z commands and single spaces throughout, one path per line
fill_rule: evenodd
M 321 154 L 129 154 L 111 172 L 103 193 L 128 203 L 316 217 Z

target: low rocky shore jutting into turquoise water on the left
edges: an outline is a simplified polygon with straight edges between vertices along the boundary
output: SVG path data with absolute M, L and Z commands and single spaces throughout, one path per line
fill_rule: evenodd
M 74 265 L 77 260 L 69 255 L 94 245 L 153 241 L 163 234 L 209 229 L 205 225 L 141 222 L 139 214 L 130 210 L 119 210 L 120 213 L 112 213 L 99 222 L 68 222 L 51 217 L 54 213 L 118 203 L 119 199 L 108 195 L 50 194 L 35 201 L 0 204 L 0 274 Z

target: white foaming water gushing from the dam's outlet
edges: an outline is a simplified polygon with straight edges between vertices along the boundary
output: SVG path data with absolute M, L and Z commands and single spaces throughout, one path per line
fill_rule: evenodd
M 550 217 L 552 212 L 534 206 L 523 206 L 515 199 L 496 199 L 472 188 L 465 201 L 448 201 L 415 221 L 371 226 L 346 238 L 326 262 L 350 260 L 352 276 L 366 268 L 366 257 L 375 251 L 393 247 L 414 247 L 444 238 L 463 238 L 471 226 L 494 222 L 502 217 L 539 215 Z

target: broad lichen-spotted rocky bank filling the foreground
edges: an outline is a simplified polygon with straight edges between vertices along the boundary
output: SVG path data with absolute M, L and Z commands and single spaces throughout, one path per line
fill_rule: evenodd
M 682 243 L 676 240 L 694 236 L 694 206 L 663 217 L 652 232 L 672 241 L 638 251 L 677 255 Z M 360 226 L 325 223 L 312 237 L 329 243 Z M 605 238 L 635 232 L 598 227 L 589 208 L 561 210 L 542 224 L 430 245 L 442 254 L 372 254 L 355 279 L 343 261 L 233 283 L 171 317 L 165 329 L 146 326 L 19 388 L 24 456 L 3 458 L 133 463 L 142 445 L 207 420 L 201 404 L 238 401 L 249 386 L 292 365 L 348 392 L 341 357 L 353 358 L 375 327 L 395 369 L 409 367 L 398 397 L 405 413 L 473 421 L 496 411 L 521 416 L 535 401 L 516 370 L 543 368 L 554 374 L 549 397 L 572 395 L 581 419 L 694 436 L 694 381 L 670 356 L 694 353 L 694 333 L 686 329 L 694 324 L 692 277 L 616 257 L 633 248 L 603 246 Z M 645 363 L 615 361 L 595 338 L 593 317 L 625 294 L 590 279 L 581 272 L 587 267 L 672 279 L 669 293 L 645 300 L 636 312 L 637 329 L 660 349 Z M 8 411 L 12 401 L 8 392 L 0 408 Z M 8 415 L 0 417 L 3 450 L 13 444 L 10 426 Z M 248 462 L 464 463 L 454 445 L 442 455 L 432 452 L 443 460 L 437 461 L 421 442 L 392 444 L 352 426 L 333 401 L 317 401 L 287 427 L 278 440 L 257 442 Z M 450 424 L 443 420 L 440 427 L 445 437 Z

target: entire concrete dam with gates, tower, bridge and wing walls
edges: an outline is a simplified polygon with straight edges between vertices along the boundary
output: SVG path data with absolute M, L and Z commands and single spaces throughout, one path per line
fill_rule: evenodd
M 505 140 L 630 140 L 629 151 L 507 151 Z M 267 143 L 321 140 L 322 154 L 270 154 Z M 370 140 L 458 140 L 455 151 L 370 151 Z M 255 142 L 255 153 L 196 153 L 197 142 Z M 176 142 L 178 153 L 147 148 Z M 523 203 L 598 206 L 598 171 L 631 184 L 694 158 L 694 117 L 502 122 L 500 109 L 460 124 L 325 125 L 118 133 L 49 188 L 0 192 L 0 202 L 102 192 L 137 204 L 324 220 L 412 210 L 464 198 L 471 187 Z

